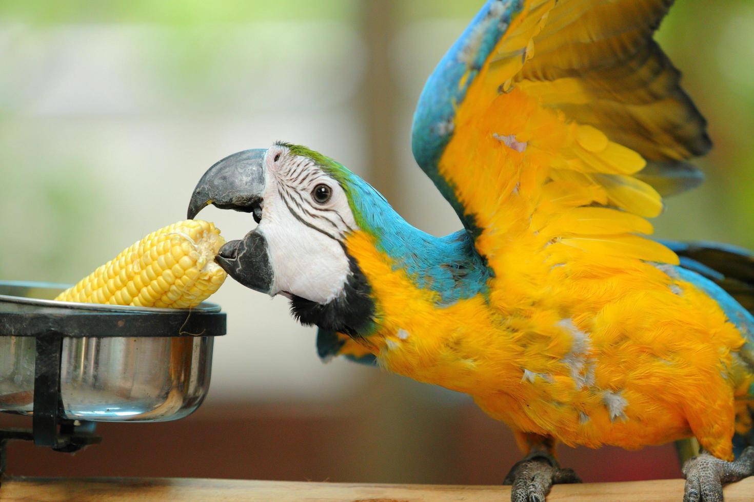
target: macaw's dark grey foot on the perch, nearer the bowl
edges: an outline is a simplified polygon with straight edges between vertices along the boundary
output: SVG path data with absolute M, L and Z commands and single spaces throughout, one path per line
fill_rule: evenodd
M 512 502 L 544 502 L 552 485 L 580 482 L 573 469 L 561 469 L 552 455 L 537 451 L 516 462 L 503 484 L 513 485 L 510 489 Z

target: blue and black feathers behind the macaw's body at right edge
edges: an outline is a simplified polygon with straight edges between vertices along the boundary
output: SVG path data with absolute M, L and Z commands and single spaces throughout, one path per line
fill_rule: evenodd
M 678 254 L 681 268 L 688 271 L 682 274 L 685 275 L 683 278 L 710 294 L 749 340 L 738 354 L 743 364 L 754 373 L 754 254 L 743 248 L 716 242 L 663 244 Z M 754 383 L 749 388 L 749 396 L 752 398 L 749 415 L 754 421 Z M 741 424 L 745 422 L 746 417 L 743 418 Z M 736 455 L 750 445 L 754 445 L 754 428 L 733 437 Z

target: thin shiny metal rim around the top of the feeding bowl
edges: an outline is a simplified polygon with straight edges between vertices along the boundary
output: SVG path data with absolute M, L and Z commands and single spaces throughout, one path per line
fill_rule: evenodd
M 73 284 L 58 284 L 55 282 L 35 281 L 0 281 L 0 285 L 17 286 L 20 288 L 48 288 L 66 290 Z M 0 302 L 26 303 L 28 305 L 55 307 L 57 309 L 101 310 L 105 312 L 151 312 L 153 314 L 177 314 L 181 312 L 212 314 L 215 312 L 221 312 L 222 310 L 216 303 L 209 302 L 202 302 L 192 309 L 163 309 L 159 307 L 137 307 L 131 305 L 103 305 L 100 303 L 58 302 L 56 300 L 41 300 L 40 298 L 15 297 L 8 294 L 0 294 Z

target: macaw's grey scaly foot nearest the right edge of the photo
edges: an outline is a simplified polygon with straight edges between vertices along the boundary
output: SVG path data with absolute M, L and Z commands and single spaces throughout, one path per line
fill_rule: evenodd
M 683 502 L 722 502 L 722 485 L 754 475 L 754 446 L 727 462 L 707 452 L 689 458 L 683 465 L 686 486 Z

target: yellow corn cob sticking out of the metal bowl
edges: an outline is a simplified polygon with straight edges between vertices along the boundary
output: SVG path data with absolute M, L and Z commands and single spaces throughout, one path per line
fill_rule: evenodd
M 197 306 L 225 281 L 215 263 L 225 244 L 207 221 L 186 220 L 150 233 L 55 300 L 142 307 Z

